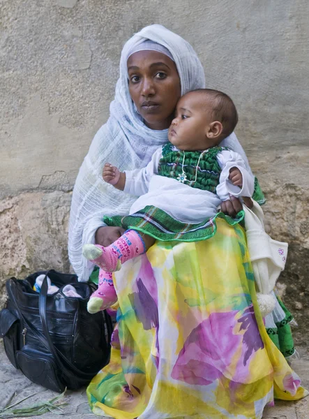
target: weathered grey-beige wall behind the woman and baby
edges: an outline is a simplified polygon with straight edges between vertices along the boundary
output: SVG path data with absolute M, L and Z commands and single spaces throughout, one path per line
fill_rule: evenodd
M 304 344 L 308 20 L 306 0 L 1 1 L 0 284 L 13 274 L 69 269 L 71 191 L 107 119 L 121 47 L 161 23 L 193 44 L 208 86 L 236 103 L 237 134 L 268 198 L 266 228 L 290 243 L 280 289 Z

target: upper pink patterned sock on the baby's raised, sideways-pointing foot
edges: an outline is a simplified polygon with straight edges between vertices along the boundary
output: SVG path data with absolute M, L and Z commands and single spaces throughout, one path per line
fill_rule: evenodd
M 86 259 L 96 263 L 106 272 L 119 270 L 121 263 L 145 253 L 144 240 L 135 230 L 127 230 L 116 242 L 108 247 L 100 244 L 85 244 L 83 255 Z

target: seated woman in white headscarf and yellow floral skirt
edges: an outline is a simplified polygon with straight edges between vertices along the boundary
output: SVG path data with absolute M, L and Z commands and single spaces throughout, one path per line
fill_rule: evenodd
M 123 47 L 110 119 L 94 138 L 73 193 L 69 251 L 80 280 L 93 270 L 82 245 L 110 244 L 121 232 L 103 227 L 103 215 L 127 214 L 133 203 L 103 182 L 107 157 L 120 170 L 144 166 L 167 141 L 179 96 L 202 87 L 193 48 L 164 27 L 146 27 Z M 224 145 L 246 159 L 234 134 Z M 237 212 L 237 205 L 225 210 Z M 205 242 L 159 242 L 124 264 L 114 284 L 118 325 L 110 364 L 87 390 L 93 413 L 262 418 L 273 397 L 306 395 L 266 333 L 241 226 L 218 220 L 216 235 Z

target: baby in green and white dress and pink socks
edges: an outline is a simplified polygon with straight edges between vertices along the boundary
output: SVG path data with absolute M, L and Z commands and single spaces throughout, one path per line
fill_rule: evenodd
M 241 156 L 220 147 L 238 122 L 231 98 L 211 89 L 190 91 L 179 99 L 169 127 L 169 142 L 142 169 L 120 172 L 106 163 L 103 179 L 137 198 L 130 215 L 105 217 L 126 232 L 109 247 L 86 244 L 83 255 L 100 267 L 98 290 L 88 311 L 96 313 L 116 302 L 112 273 L 145 253 L 156 240 L 195 242 L 216 233 L 218 205 L 230 196 L 253 195 L 254 177 Z M 231 224 L 241 221 L 226 217 Z

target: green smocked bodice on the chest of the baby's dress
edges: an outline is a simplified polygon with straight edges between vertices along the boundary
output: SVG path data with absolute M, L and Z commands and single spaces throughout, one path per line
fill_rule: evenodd
M 211 147 L 202 152 L 183 152 L 170 142 L 163 146 L 163 157 L 160 159 L 158 175 L 178 179 L 186 172 L 188 186 L 216 193 L 222 172 L 217 155 L 226 147 Z M 198 166 L 197 166 L 198 164 Z M 196 176 L 196 180 L 195 180 Z

